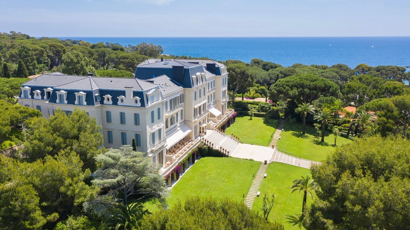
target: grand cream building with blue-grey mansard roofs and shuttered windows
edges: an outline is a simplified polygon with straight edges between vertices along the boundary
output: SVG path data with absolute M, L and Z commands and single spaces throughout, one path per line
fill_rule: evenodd
M 18 103 L 44 117 L 61 108 L 67 115 L 85 109 L 103 126 L 104 146 L 132 144 L 168 173 L 200 142 L 207 129 L 221 124 L 227 109 L 228 72 L 211 60 L 149 59 L 135 78 L 42 74 L 21 87 Z

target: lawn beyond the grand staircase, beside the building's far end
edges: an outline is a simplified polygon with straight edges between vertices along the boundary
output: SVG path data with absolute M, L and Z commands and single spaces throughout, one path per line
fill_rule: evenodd
M 238 136 L 241 143 L 269 146 L 278 124 L 278 120 L 269 119 L 266 122 L 262 117 L 253 117 L 251 120 L 248 116 L 238 116 L 225 133 Z

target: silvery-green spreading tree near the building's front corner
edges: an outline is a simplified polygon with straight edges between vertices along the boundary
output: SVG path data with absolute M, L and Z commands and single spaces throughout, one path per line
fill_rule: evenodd
M 132 151 L 130 146 L 120 149 L 109 149 L 95 157 L 98 165 L 94 172 L 96 178 L 91 182 L 105 191 L 109 196 L 120 197 L 123 205 L 128 205 L 128 198 L 138 200 L 157 198 L 165 201 L 168 195 L 163 176 L 158 174 L 160 166 L 150 162 L 141 152 Z

